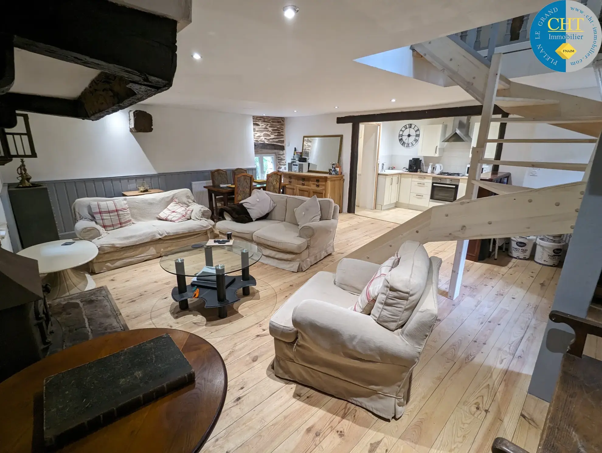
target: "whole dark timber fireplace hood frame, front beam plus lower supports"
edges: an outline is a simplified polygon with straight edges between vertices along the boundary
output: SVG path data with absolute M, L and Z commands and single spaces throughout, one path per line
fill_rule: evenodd
M 90 120 L 127 108 L 172 86 L 177 26 L 108 0 L 10 2 L 0 30 L 14 36 L 15 47 L 101 73 L 77 99 L 7 93 L 0 100 L 16 110 Z

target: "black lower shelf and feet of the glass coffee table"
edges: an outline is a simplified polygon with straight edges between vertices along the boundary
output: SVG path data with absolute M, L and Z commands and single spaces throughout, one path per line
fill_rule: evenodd
M 240 300 L 240 297 L 236 294 L 237 291 L 243 288 L 243 295 L 247 296 L 250 294 L 250 286 L 257 285 L 257 282 L 249 275 L 248 268 L 246 273 L 243 270 L 242 276 L 226 276 L 222 274 L 222 276 L 217 277 L 217 283 L 213 283 L 213 285 L 216 285 L 216 288 L 203 288 L 199 285 L 186 285 L 185 277 L 177 276 L 178 286 L 172 289 L 172 298 L 178 303 L 180 310 L 187 310 L 188 299 L 193 299 L 194 292 L 199 289 L 199 296 L 197 298 L 205 301 L 205 308 L 217 308 L 219 317 L 226 318 L 228 316 L 228 305 Z M 223 279 L 220 277 L 223 277 Z M 244 277 L 247 277 L 247 279 L 244 279 Z M 183 280 L 184 285 L 181 285 L 181 280 Z M 211 286 L 211 283 L 203 286 Z

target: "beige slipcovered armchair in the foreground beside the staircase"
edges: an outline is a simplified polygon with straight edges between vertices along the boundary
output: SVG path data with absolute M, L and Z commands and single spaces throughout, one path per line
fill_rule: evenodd
M 377 264 L 344 258 L 337 274 L 318 272 L 299 288 L 270 319 L 275 374 L 399 418 L 437 318 L 441 267 L 418 242 L 405 242 L 400 257 L 370 315 L 350 307 Z

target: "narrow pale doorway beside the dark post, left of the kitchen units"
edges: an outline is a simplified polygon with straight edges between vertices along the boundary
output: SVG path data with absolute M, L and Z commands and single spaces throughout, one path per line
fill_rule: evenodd
M 355 205 L 374 209 L 380 148 L 380 123 L 361 123 L 358 140 L 358 185 Z

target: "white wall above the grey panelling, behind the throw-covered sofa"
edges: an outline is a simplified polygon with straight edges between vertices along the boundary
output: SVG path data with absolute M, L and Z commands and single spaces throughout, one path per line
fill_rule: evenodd
M 29 114 L 38 155 L 26 161 L 29 174 L 36 181 L 255 166 L 250 115 L 135 108 L 152 114 L 153 132 L 129 132 L 128 111 L 95 122 Z M 5 183 L 17 180 L 18 165 L 0 167 Z

